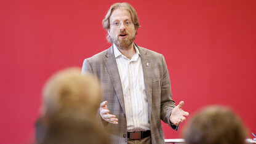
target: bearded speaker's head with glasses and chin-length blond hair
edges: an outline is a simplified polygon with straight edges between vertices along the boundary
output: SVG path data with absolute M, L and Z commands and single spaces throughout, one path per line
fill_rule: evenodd
M 132 44 L 140 27 L 136 10 L 126 2 L 113 4 L 102 24 L 108 31 L 108 42 L 113 42 L 121 48 Z

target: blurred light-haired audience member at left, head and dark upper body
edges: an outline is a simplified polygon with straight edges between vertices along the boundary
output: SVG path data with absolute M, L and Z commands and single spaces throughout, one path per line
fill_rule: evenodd
M 99 82 L 82 76 L 80 68 L 54 74 L 42 95 L 44 132 L 38 143 L 108 143 L 96 118 L 100 92 Z

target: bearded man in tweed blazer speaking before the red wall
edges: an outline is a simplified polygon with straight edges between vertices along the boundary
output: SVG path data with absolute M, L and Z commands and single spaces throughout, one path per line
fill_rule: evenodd
M 163 55 L 134 43 L 140 25 L 130 4 L 113 4 L 102 23 L 113 45 L 86 58 L 82 74 L 100 79 L 103 128 L 111 143 L 164 143 L 161 119 L 177 130 L 188 112 L 172 100 Z

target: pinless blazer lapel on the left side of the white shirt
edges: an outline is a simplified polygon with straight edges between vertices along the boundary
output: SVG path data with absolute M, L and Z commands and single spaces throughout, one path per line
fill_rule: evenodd
M 121 79 L 118 72 L 118 65 L 116 64 L 116 58 L 114 57 L 113 45 L 110 49 L 106 50 L 106 58 L 104 60 L 106 69 L 108 70 L 108 74 L 110 75 L 111 82 L 114 87 L 114 91 L 118 96 L 119 103 L 122 107 L 124 113 L 126 113 L 126 109 L 124 106 L 124 96 L 122 94 L 122 84 Z

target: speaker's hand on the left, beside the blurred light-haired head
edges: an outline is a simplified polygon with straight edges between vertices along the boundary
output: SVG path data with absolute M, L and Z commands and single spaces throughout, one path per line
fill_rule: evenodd
M 113 114 L 109 114 L 110 110 L 108 110 L 108 106 L 106 106 L 106 101 L 100 103 L 100 116 L 102 116 L 102 118 L 107 121 L 110 122 L 112 124 L 118 124 L 118 119 L 116 118 L 115 115 Z

